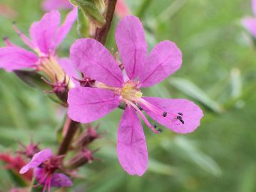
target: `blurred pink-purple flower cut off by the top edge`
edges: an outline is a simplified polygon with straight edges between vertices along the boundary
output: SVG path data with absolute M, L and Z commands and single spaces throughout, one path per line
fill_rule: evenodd
M 72 9 L 72 5 L 68 0 L 44 0 L 43 10 L 51 11 L 53 9 Z

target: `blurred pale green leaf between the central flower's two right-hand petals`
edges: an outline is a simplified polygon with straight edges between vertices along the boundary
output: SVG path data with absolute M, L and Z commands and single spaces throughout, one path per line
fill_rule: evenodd
M 210 108 L 215 113 L 221 113 L 223 111 L 222 106 L 216 101 L 213 101 L 203 90 L 193 84 L 191 81 L 182 78 L 173 78 L 170 84 L 176 89 L 180 90 L 184 94 L 194 98 L 195 100 L 203 103 L 206 107 Z

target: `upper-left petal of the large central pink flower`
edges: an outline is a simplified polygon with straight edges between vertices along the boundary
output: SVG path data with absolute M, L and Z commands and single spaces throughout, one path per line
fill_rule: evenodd
M 108 49 L 94 39 L 78 39 L 71 46 L 71 60 L 76 68 L 91 79 L 108 86 L 121 87 L 123 74 Z

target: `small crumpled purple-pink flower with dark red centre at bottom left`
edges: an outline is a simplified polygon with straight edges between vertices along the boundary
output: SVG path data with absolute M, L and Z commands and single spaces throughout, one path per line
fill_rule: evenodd
M 31 161 L 22 167 L 19 173 L 24 174 L 30 169 L 34 169 L 34 177 L 39 185 L 43 185 L 43 192 L 51 187 L 69 187 L 72 186 L 72 181 L 63 173 L 54 173 L 60 168 L 61 157 L 53 156 L 50 148 L 46 148 L 39 153 L 36 153 Z

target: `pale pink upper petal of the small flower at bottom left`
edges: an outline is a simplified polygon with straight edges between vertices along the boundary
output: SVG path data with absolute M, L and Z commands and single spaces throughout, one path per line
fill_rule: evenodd
M 41 163 L 43 163 L 43 161 L 46 161 L 51 156 L 51 148 L 43 149 L 39 153 L 36 153 L 31 159 L 31 161 L 28 164 L 26 164 L 26 166 L 21 168 L 19 173 L 26 173 L 27 171 L 29 171 L 30 168 L 35 168 L 39 166 Z

